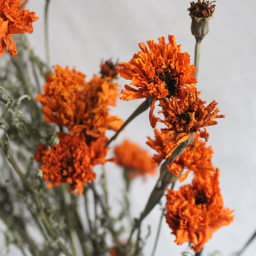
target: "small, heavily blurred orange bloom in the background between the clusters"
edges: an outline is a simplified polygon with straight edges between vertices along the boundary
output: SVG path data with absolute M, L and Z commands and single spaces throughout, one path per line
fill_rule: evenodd
M 146 174 L 156 174 L 156 164 L 152 157 L 136 143 L 124 140 L 122 144 L 116 145 L 114 154 L 118 165 L 129 170 L 130 179 L 137 175 L 145 177 Z

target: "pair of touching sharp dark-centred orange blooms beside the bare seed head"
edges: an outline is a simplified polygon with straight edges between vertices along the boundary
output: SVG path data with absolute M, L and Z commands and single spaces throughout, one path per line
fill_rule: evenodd
M 168 157 L 195 132 L 207 141 L 209 134 L 206 127 L 216 125 L 214 119 L 224 116 L 218 115 L 217 102 L 206 106 L 206 102 L 200 99 L 200 92 L 194 87 L 197 82 L 194 78 L 196 68 L 190 65 L 188 53 L 181 53 L 174 36 L 168 36 L 167 44 L 161 37 L 158 44 L 148 41 L 149 49 L 143 43 L 139 46 L 141 50 L 134 54 L 130 62 L 119 64 L 120 75 L 130 79 L 134 86 L 125 85 L 120 99 L 152 98 L 151 126 L 154 127 L 157 122 L 167 126 L 162 131 L 168 134 L 165 143 L 172 142 Z M 160 100 L 162 111 L 159 114 L 163 114 L 163 120 L 153 114 L 157 99 Z

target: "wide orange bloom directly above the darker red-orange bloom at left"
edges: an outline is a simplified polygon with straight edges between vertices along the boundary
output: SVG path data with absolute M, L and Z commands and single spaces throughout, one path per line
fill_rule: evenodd
M 47 77 L 45 93 L 36 98 L 43 105 L 46 122 L 66 126 L 77 136 L 85 132 L 99 137 L 107 129 L 119 129 L 122 120 L 108 113 L 109 105 L 115 105 L 119 96 L 118 84 L 99 76 L 85 82 L 85 75 L 74 68 L 55 66 L 54 69 L 55 73 Z

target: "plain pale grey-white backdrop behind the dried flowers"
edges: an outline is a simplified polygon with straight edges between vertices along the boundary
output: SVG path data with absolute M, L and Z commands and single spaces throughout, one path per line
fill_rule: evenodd
M 128 62 L 139 47 L 137 43 L 173 34 L 182 50 L 194 59 L 194 37 L 190 33 L 190 1 L 180 0 L 52 0 L 49 13 L 50 65 L 76 66 L 91 79 L 99 71 L 102 59 Z M 45 59 L 43 6 L 45 1 L 30 1 L 27 9 L 40 16 L 29 36 L 36 53 Z M 208 145 L 214 149 L 213 163 L 221 170 L 220 187 L 225 206 L 234 209 L 234 222 L 214 233 L 206 243 L 203 255 L 219 250 L 231 255 L 243 246 L 256 229 L 256 2 L 217 1 L 210 32 L 203 40 L 199 84 L 202 98 L 219 102 L 219 124 L 209 128 Z M 121 85 L 125 84 L 120 80 Z M 126 119 L 140 101 L 118 102 L 113 113 Z M 129 135 L 130 134 L 130 135 Z M 153 134 L 148 113 L 135 119 L 119 137 L 145 145 L 146 136 Z M 149 150 L 149 148 L 148 148 Z M 120 170 L 108 164 L 112 202 L 120 194 Z M 132 185 L 132 214 L 138 217 L 157 177 Z M 151 225 L 151 238 L 145 256 L 151 255 L 160 215 L 160 206 L 147 217 L 143 230 Z M 186 246 L 173 243 L 174 236 L 163 222 L 156 256 L 180 255 Z M 143 235 L 145 235 L 143 232 Z M 244 256 L 256 255 L 256 240 Z

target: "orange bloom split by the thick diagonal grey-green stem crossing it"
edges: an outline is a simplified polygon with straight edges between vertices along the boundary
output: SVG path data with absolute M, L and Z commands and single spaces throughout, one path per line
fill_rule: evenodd
M 157 129 L 154 129 L 154 133 L 155 140 L 148 137 L 147 144 L 157 151 L 157 154 L 154 154 L 153 158 L 157 164 L 160 164 L 172 150 L 172 142 L 165 143 L 169 139 L 170 133 L 161 133 Z M 212 154 L 212 148 L 206 148 L 206 142 L 199 140 L 199 134 L 194 134 L 194 141 L 187 145 L 183 153 L 176 158 L 174 163 L 167 165 L 167 167 L 176 176 L 180 175 L 184 169 L 186 170 L 181 175 L 180 182 L 185 180 L 191 171 L 194 171 L 196 175 L 207 177 L 215 172 L 215 167 L 211 163 Z

